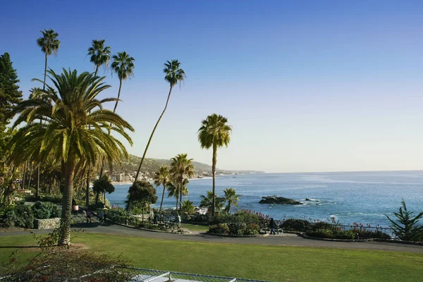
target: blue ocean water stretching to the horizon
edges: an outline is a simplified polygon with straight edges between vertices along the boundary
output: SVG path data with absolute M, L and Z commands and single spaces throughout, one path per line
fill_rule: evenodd
M 124 206 L 130 185 L 115 185 L 107 195 L 111 204 Z M 219 176 L 216 193 L 236 188 L 241 195 L 239 208 L 269 214 L 274 219 L 305 218 L 328 220 L 334 217 L 344 224 L 354 222 L 372 226 L 390 225 L 385 214 L 398 211 L 401 200 L 407 209 L 423 211 L 423 171 L 372 171 L 342 173 L 266 173 L 245 176 Z M 191 180 L 189 200 L 200 204 L 200 195 L 212 190 L 212 179 Z M 157 188 L 160 205 L 163 186 Z M 278 195 L 300 200 L 301 205 L 259 204 L 263 196 Z M 305 201 L 305 199 L 313 199 Z M 185 200 L 185 199 L 184 199 Z M 319 201 L 319 202 L 317 202 Z M 164 207 L 175 207 L 176 200 L 164 197 Z

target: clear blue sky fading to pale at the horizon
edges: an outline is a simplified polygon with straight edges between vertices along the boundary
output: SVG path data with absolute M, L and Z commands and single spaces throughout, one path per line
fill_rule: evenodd
M 92 39 L 135 58 L 117 109 L 135 127 L 132 154 L 142 155 L 166 102 L 163 63 L 178 59 L 188 77 L 147 157 L 211 164 L 197 130 L 217 113 L 233 125 L 219 168 L 423 168 L 423 1 L 7 2 L 0 52 L 11 54 L 25 97 L 43 75 L 35 41 L 44 28 L 61 40 L 54 71 L 93 71 Z M 104 75 L 113 86 L 104 97 L 116 97 L 118 78 Z

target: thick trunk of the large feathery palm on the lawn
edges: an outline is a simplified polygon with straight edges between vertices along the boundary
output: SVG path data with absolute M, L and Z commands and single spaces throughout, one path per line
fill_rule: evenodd
M 62 213 L 59 245 L 71 243 L 71 213 L 73 196 L 73 176 L 75 175 L 75 153 L 68 154 L 66 161 L 65 188 L 62 197 Z

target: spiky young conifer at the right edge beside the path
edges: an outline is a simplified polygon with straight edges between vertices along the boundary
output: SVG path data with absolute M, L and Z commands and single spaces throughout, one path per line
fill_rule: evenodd
M 402 207 L 400 207 L 398 212 L 393 214 L 396 216 L 397 221 L 394 221 L 389 216 L 386 216 L 389 221 L 391 221 L 391 228 L 395 229 L 394 233 L 400 238 L 400 240 L 405 241 L 422 241 L 423 240 L 423 225 L 418 226 L 417 223 L 419 219 L 422 218 L 423 212 L 417 214 L 417 216 L 412 216 L 413 212 L 407 211 L 407 206 L 405 201 L 401 202 Z

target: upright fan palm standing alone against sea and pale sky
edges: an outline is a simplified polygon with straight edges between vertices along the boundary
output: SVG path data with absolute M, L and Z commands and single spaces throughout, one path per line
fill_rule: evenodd
M 213 158 L 212 158 L 212 175 L 213 175 L 213 195 L 216 194 L 216 162 L 217 162 L 217 148 L 225 145 L 228 147 L 231 142 L 232 127 L 228 125 L 228 118 L 224 116 L 212 114 L 207 116 L 202 122 L 200 129 L 198 130 L 198 141 L 202 149 L 210 149 L 213 147 Z M 213 197 L 214 200 L 214 197 Z M 212 206 L 212 214 L 214 214 L 214 203 Z

